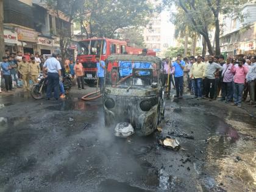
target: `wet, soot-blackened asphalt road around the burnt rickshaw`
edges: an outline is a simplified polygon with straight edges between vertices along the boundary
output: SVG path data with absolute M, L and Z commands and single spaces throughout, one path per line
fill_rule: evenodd
M 88 93 L 92 88 L 87 88 Z M 120 139 L 101 99 L 0 96 L 0 191 L 256 191 L 255 108 L 168 101 L 162 132 Z M 182 148 L 162 148 L 168 133 Z

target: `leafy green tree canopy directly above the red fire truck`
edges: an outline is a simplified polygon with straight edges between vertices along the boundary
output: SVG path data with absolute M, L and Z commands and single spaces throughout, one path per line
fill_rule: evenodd
M 146 26 L 147 18 L 153 12 L 148 1 L 94 0 L 85 1 L 83 11 L 79 12 L 82 15 L 77 18 L 79 21 L 84 20 L 81 26 L 87 38 L 113 38 L 118 29 Z

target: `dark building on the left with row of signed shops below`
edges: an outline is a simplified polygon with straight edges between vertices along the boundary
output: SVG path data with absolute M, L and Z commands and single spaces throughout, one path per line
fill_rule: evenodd
M 55 15 L 40 0 L 4 0 L 5 50 L 30 54 L 60 53 L 58 31 L 71 34 L 68 18 Z M 71 56 L 76 54 L 76 42 L 68 46 Z

